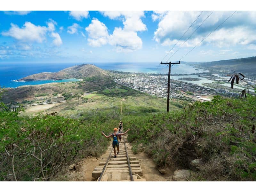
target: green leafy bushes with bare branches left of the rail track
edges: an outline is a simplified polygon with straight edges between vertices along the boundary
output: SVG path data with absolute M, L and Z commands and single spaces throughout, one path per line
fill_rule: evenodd
M 1 90 L 0 104 L 6 108 Z M 97 116 L 84 122 L 55 113 L 32 118 L 18 115 L 18 110 L 0 110 L 1 181 L 50 180 L 81 158 L 100 156 L 108 143 L 102 139 L 101 128 L 110 133 L 117 124 L 109 119 L 102 123 Z

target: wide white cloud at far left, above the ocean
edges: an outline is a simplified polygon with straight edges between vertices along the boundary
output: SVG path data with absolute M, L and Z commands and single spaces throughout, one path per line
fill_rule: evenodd
M 42 43 L 45 39 L 45 34 L 48 31 L 47 27 L 36 26 L 30 22 L 25 22 L 22 28 L 11 23 L 9 31 L 2 32 L 3 36 L 11 36 L 21 41 L 35 41 Z

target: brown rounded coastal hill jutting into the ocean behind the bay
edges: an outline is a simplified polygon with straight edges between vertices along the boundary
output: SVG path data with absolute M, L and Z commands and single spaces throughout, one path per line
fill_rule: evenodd
M 83 79 L 93 76 L 108 76 L 109 72 L 92 64 L 82 64 L 73 67 L 65 68 L 59 72 L 43 72 L 34 75 L 26 76 L 18 81 L 36 81 L 36 80 L 60 80 L 60 79 Z

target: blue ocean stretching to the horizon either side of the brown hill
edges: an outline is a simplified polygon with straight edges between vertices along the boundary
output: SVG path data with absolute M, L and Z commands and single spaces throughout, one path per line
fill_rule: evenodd
M 77 79 L 64 80 L 43 80 L 43 81 L 26 81 L 18 82 L 17 80 L 36 73 L 42 72 L 57 72 L 64 68 L 83 63 L 36 63 L 36 64 L 3 64 L 0 63 L 0 86 L 16 88 L 22 85 L 45 84 L 52 82 L 69 82 L 78 81 Z M 138 62 L 138 63 L 91 63 L 107 70 L 118 70 L 123 72 L 138 72 L 138 73 L 160 73 L 167 74 L 168 67 L 159 65 L 157 62 Z M 195 70 L 194 67 L 177 64 L 172 67 L 172 74 L 192 74 L 202 73 L 207 70 Z

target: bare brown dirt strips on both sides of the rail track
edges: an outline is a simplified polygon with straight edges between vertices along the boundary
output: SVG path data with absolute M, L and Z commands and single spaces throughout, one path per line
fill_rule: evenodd
M 109 152 L 104 153 L 102 156 L 96 157 L 87 157 L 82 159 L 76 164 L 76 171 L 66 170 L 64 175 L 61 175 L 55 180 L 65 180 L 65 181 L 94 181 L 95 178 L 92 178 L 93 169 L 99 165 L 102 159 L 105 159 L 109 156 Z M 139 160 L 140 166 L 142 168 L 143 175 L 142 178 L 145 178 L 146 181 L 172 181 L 173 170 L 166 168 L 166 174 L 161 174 L 148 156 L 140 152 L 139 154 L 133 154 L 136 159 Z

